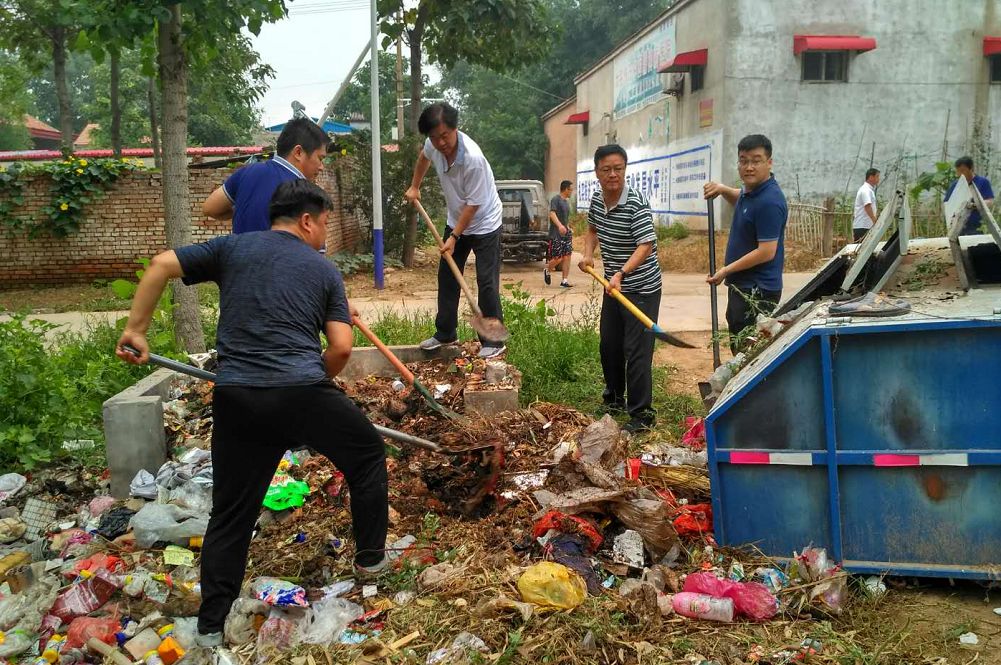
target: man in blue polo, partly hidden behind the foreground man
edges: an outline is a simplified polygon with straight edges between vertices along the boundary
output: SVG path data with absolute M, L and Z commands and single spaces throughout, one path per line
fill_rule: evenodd
M 215 219 L 232 218 L 234 233 L 268 230 L 271 221 L 267 206 L 274 190 L 287 180 L 315 181 L 323 170 L 329 142 L 309 118 L 289 120 L 278 135 L 274 157 L 233 171 L 202 203 L 202 214 Z

